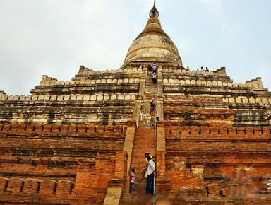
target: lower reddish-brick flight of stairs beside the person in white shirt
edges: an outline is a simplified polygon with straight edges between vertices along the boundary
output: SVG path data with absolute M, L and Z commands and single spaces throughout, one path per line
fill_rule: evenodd
M 146 165 L 144 153 L 154 153 L 155 150 L 155 129 L 139 128 L 135 132 L 135 140 L 133 144 L 133 155 L 131 160 L 131 168 L 135 168 L 135 190 L 129 194 L 126 189 L 124 197 L 121 199 L 120 205 L 151 205 L 153 197 L 145 194 L 145 185 L 147 180 L 142 174 L 142 170 Z

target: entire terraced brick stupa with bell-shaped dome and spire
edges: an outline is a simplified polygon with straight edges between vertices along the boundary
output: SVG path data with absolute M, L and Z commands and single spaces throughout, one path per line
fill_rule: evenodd
M 0 91 L 0 205 L 271 204 L 270 113 L 261 78 L 185 69 L 154 5 L 120 69 Z

